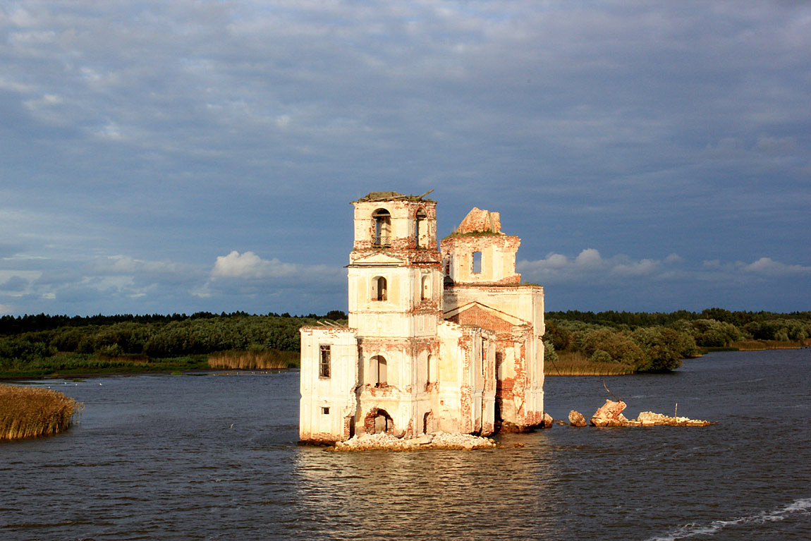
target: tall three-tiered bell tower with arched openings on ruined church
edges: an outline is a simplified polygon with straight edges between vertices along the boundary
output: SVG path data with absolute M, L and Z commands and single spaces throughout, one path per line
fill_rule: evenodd
M 413 436 L 431 411 L 443 283 L 436 201 L 425 195 L 373 191 L 352 202 L 349 326 L 358 339 L 357 422 L 366 432 Z

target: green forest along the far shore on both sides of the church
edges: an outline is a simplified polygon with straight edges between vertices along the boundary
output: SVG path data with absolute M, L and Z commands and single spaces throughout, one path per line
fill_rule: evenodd
M 298 328 L 323 320 L 345 323 L 346 317 L 343 311 L 324 316 L 245 312 L 2 316 L 0 373 L 113 370 L 126 363 L 191 359 L 222 351 L 295 352 Z M 681 359 L 706 348 L 750 349 L 752 341 L 796 347 L 808 345 L 811 338 L 809 311 L 551 311 L 546 324 L 543 341 L 548 361 L 555 362 L 558 354 L 577 354 L 585 362 L 618 363 L 629 371 L 672 370 Z M 199 360 L 187 363 L 189 367 L 200 364 Z

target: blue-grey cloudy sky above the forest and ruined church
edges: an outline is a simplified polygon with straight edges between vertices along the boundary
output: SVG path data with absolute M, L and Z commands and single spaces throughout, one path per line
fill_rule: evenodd
M 0 315 L 346 310 L 429 190 L 550 311 L 811 310 L 811 4 L 0 6 Z

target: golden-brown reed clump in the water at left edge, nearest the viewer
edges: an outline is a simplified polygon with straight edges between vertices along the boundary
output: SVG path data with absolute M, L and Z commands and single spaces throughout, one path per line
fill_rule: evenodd
M 0 440 L 58 434 L 82 409 L 81 402 L 51 389 L 0 384 Z

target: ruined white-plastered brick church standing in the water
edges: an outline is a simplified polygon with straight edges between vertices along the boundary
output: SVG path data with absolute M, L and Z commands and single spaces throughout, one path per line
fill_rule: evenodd
M 539 426 L 543 288 L 515 272 L 521 239 L 474 208 L 437 245 L 424 195 L 352 204 L 349 323 L 300 331 L 301 440 Z

